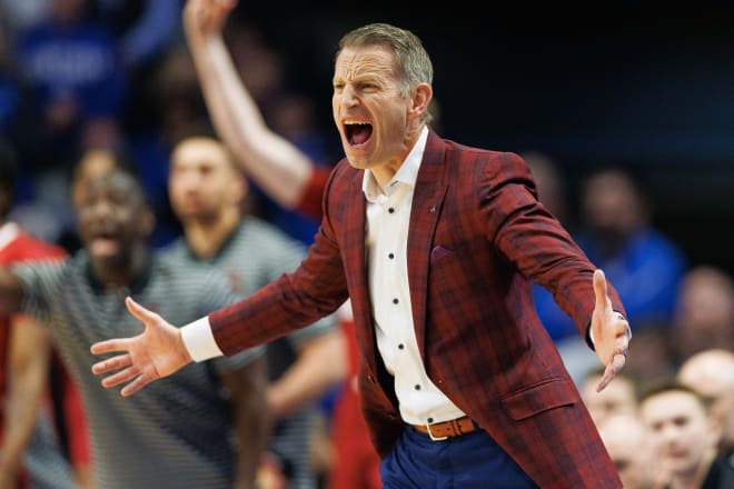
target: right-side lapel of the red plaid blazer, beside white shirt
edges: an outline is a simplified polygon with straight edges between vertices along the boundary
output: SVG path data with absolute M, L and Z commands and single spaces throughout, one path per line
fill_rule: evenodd
M 448 188 L 445 171 L 446 144 L 430 131 L 418 171 L 408 230 L 408 283 L 413 307 L 413 325 L 418 351 L 425 363 L 426 297 L 430 252 L 438 216 Z

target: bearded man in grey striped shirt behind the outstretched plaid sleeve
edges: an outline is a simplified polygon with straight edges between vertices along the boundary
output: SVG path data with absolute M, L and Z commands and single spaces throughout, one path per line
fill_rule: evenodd
M 184 263 L 218 267 L 238 297 L 252 295 L 306 257 L 304 244 L 272 224 L 240 216 L 247 181 L 207 132 L 192 132 L 175 146 L 169 191 L 185 236 L 168 253 Z M 269 448 L 291 489 L 317 487 L 309 453 L 316 401 L 344 379 L 344 349 L 334 317 L 267 345 L 267 409 L 275 422 Z

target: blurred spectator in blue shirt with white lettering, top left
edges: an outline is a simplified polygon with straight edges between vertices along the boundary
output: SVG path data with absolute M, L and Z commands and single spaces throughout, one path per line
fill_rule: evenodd
M 87 12 L 87 0 L 51 0 L 50 17 L 22 32 L 16 61 L 33 93 L 30 163 L 72 164 L 78 149 L 113 140 L 126 73 L 109 30 Z M 51 149 L 46 144 L 51 144 Z

